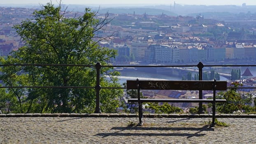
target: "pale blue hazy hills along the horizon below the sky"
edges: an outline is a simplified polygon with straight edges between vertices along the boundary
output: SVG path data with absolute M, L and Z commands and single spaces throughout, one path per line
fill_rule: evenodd
M 223 19 L 226 17 L 248 16 L 256 14 L 256 6 L 237 6 L 237 5 L 65 5 L 69 11 L 84 12 L 86 7 L 90 7 L 94 11 L 105 14 L 106 12 L 114 14 L 149 14 L 161 15 L 162 13 L 169 16 L 197 16 L 203 15 L 206 19 Z M 40 8 L 39 4 L 26 5 L 1 5 L 1 7 L 26 7 L 26 8 Z M 256 16 L 254 16 L 256 17 Z

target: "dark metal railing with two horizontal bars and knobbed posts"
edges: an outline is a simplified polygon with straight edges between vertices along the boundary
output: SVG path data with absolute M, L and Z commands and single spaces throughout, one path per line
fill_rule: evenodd
M 96 84 L 92 86 L 0 86 L 0 88 L 94 88 L 96 95 L 96 107 L 94 113 L 101 113 L 100 110 L 100 90 L 105 89 L 126 89 L 126 87 L 101 87 L 100 86 L 100 69 L 101 67 L 198 67 L 199 80 L 202 80 L 203 67 L 256 67 L 256 65 L 204 65 L 199 62 L 198 65 L 58 65 L 58 64 L 7 64 L 3 66 L 78 66 L 78 67 L 91 67 L 96 69 Z M 228 88 L 256 88 L 256 87 L 228 87 Z M 199 99 L 202 99 L 202 91 L 199 91 Z M 202 103 L 199 103 L 198 112 L 202 113 Z

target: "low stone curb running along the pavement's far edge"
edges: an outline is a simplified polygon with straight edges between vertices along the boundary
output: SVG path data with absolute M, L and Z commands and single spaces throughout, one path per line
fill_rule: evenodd
M 0 114 L 3 117 L 105 117 L 105 118 L 136 118 L 137 114 Z M 212 118 L 212 114 L 143 114 L 144 118 Z M 256 118 L 256 114 L 216 114 L 216 118 Z

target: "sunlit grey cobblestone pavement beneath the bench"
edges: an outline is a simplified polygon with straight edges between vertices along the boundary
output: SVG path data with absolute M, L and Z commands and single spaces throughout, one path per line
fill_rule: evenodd
M 256 118 L 0 117 L 1 144 L 255 144 Z

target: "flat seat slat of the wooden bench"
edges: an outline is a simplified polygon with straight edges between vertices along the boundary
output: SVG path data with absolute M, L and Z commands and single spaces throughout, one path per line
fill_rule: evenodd
M 150 99 L 141 98 L 141 102 L 213 102 L 213 99 Z M 137 98 L 130 98 L 128 102 L 138 102 Z M 226 102 L 225 99 L 216 99 L 216 102 Z

